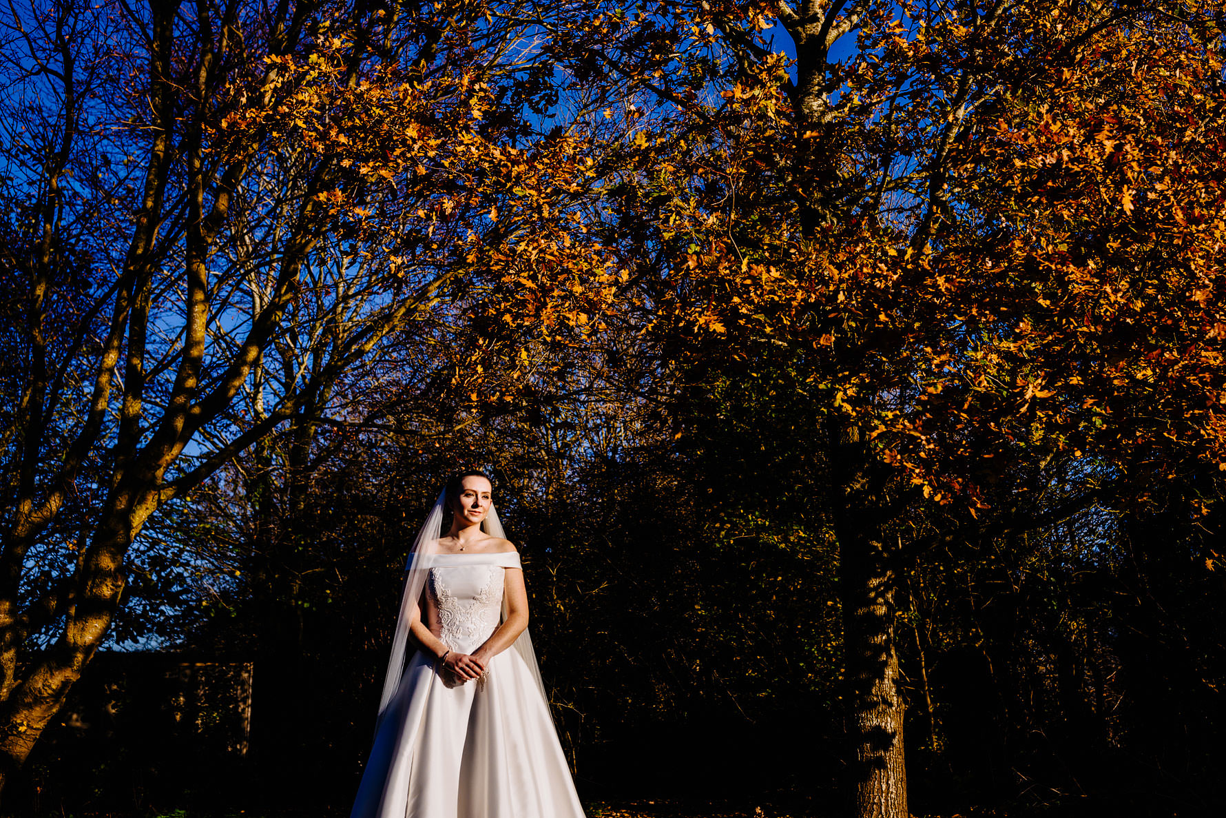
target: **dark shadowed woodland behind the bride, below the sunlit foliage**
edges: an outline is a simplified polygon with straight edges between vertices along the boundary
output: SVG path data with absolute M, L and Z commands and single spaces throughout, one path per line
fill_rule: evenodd
M 839 610 L 814 427 L 752 385 L 721 397 L 680 438 L 634 448 L 601 450 L 601 428 L 542 418 L 438 446 L 335 441 L 300 480 L 218 481 L 141 559 L 181 562 L 194 537 L 229 556 L 224 573 L 194 590 L 134 583 L 119 628 L 181 654 L 91 665 L 6 808 L 347 814 L 397 560 L 462 461 L 497 476 L 585 800 L 840 814 Z M 1101 510 L 912 567 L 897 633 L 916 814 L 1216 814 L 1226 587 L 1203 554 L 1221 520 L 1190 524 L 1187 500 L 1172 487 L 1148 514 Z M 184 681 L 177 662 L 191 661 L 234 665 L 210 688 Z M 246 662 L 239 752 L 242 681 L 221 677 Z

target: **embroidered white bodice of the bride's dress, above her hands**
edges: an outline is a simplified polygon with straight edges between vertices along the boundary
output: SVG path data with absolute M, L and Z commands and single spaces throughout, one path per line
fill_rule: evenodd
M 472 652 L 494 633 L 503 612 L 500 565 L 430 568 L 427 587 L 439 610 L 439 639 L 452 650 Z

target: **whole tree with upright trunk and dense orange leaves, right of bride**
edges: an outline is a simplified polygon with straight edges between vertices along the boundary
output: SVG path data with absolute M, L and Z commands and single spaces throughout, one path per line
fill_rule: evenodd
M 794 82 L 760 34 L 771 13 Z M 650 237 L 639 275 L 667 282 L 655 327 L 696 389 L 781 345 L 821 407 L 856 811 L 905 816 L 907 562 L 1224 461 L 1216 7 L 691 20 L 722 32 L 736 82 L 646 139 L 664 170 L 628 183 L 623 233 Z M 1054 503 L 994 494 L 1019 462 L 1038 484 L 1075 482 Z

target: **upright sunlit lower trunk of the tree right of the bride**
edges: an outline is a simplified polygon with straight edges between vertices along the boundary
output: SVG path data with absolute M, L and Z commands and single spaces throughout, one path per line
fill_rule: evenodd
M 908 818 L 904 701 L 894 648 L 897 578 L 885 519 L 858 429 L 834 430 L 834 522 L 843 617 L 843 705 L 857 818 Z

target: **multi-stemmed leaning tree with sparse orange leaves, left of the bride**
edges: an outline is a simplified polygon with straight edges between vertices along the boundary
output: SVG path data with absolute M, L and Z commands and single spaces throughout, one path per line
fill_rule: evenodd
M 570 282 L 607 276 L 549 206 L 592 175 L 577 140 L 515 147 L 509 112 L 550 93 L 532 13 L 12 11 L 0 786 L 105 640 L 159 508 L 273 429 L 300 466 L 354 367 L 430 310 L 510 298 L 547 254 L 536 315 L 574 318 Z

